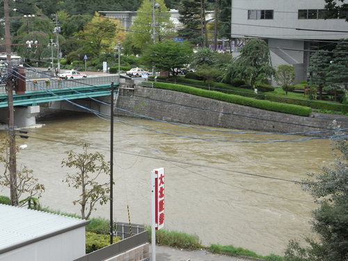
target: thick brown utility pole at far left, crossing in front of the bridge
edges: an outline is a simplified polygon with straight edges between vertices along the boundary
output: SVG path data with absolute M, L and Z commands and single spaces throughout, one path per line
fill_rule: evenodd
M 17 170 L 16 170 L 16 141 L 15 141 L 15 110 L 13 109 L 13 81 L 10 77 L 11 62 L 11 35 L 10 35 L 10 14 L 8 11 L 8 0 L 3 0 L 3 12 L 5 18 L 5 47 L 8 63 L 8 81 L 6 82 L 6 90 L 8 95 L 8 136 L 10 136 L 10 199 L 11 205 L 18 205 L 17 198 Z

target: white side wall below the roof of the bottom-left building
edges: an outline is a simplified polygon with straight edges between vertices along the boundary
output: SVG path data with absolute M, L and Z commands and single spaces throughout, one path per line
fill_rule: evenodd
M 0 254 L 0 261 L 71 261 L 86 254 L 85 227 Z

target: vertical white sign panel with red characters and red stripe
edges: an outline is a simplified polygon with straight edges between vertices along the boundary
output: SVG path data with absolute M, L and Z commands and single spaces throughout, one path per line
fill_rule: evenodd
M 155 228 L 164 227 L 164 168 L 152 170 L 152 184 L 154 184 L 155 197 Z

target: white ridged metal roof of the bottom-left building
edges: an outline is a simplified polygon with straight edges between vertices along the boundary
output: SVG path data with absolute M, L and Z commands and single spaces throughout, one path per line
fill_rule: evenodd
M 6 248 L 86 226 L 88 221 L 0 204 L 0 253 Z

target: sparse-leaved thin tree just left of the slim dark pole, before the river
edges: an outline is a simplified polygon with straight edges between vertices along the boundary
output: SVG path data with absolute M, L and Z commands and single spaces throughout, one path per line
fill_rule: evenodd
M 84 145 L 84 152 L 77 153 L 73 150 L 66 152 L 68 157 L 63 159 L 62 166 L 75 168 L 74 174 L 67 174 L 63 182 L 68 183 L 69 187 L 81 189 L 79 199 L 74 200 L 74 205 L 81 205 L 82 219 L 88 219 L 95 204 L 103 205 L 109 201 L 110 182 L 98 182 L 98 177 L 102 173 L 110 175 L 109 163 L 104 161 L 104 155 L 100 152 L 88 153 L 88 144 Z

